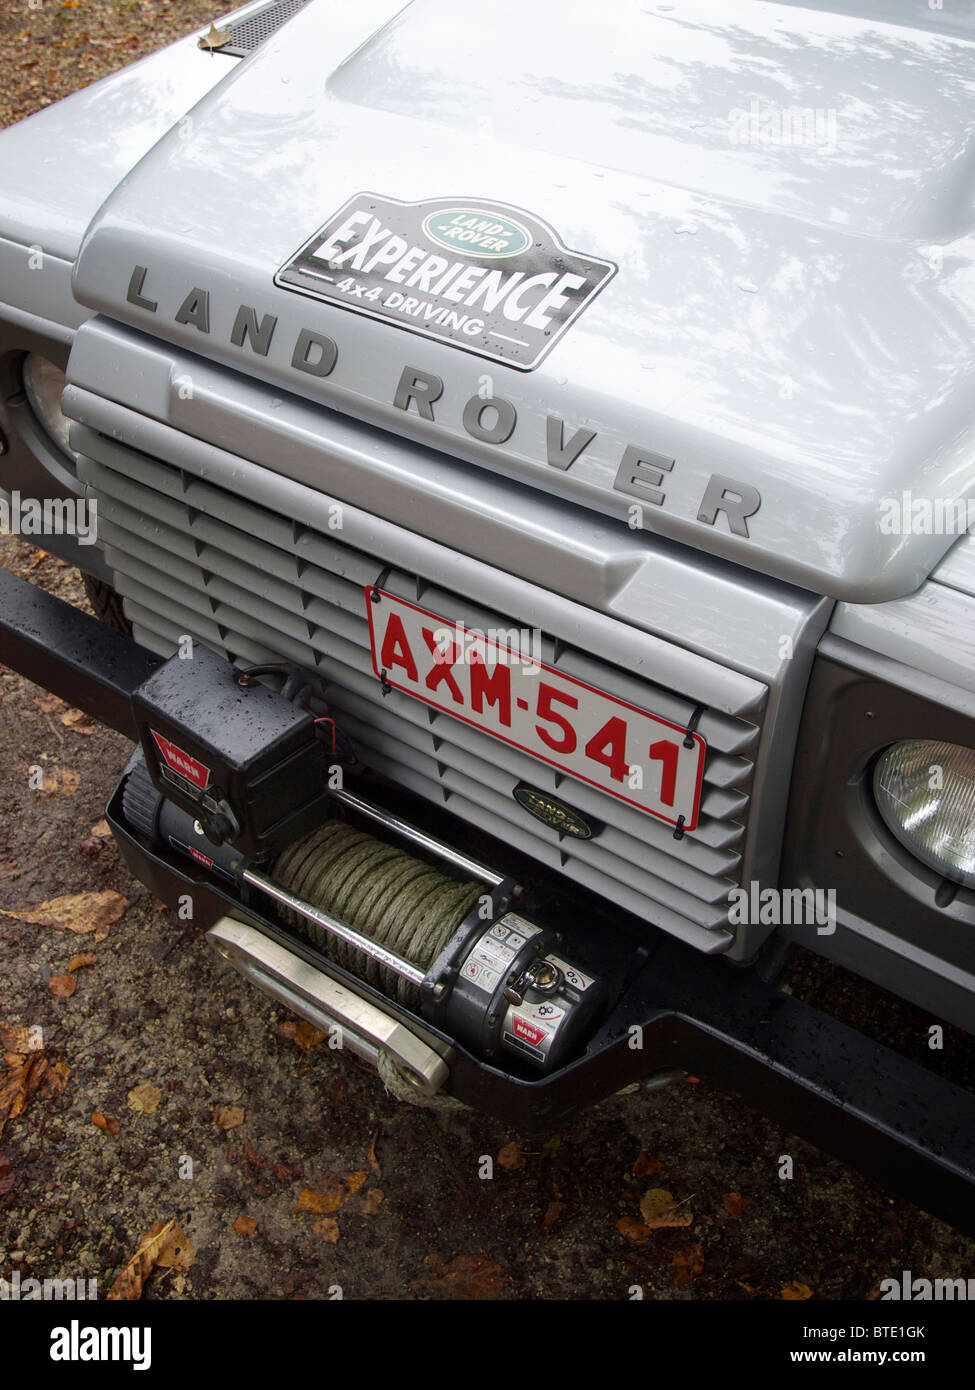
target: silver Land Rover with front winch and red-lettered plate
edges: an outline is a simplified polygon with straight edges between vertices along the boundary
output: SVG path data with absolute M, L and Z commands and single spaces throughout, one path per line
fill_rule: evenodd
M 975 1222 L 975 1098 L 777 983 L 975 1029 L 974 90 L 972 0 L 259 0 L 0 135 L 102 617 L 0 571 L 0 657 L 396 1094 L 693 1070 Z

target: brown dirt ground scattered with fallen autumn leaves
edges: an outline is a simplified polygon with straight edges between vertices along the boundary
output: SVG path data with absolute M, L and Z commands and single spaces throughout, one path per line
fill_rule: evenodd
M 175 0 L 8 7 L 0 115 L 210 17 Z M 83 602 L 22 541 L 0 541 L 0 563 Z M 7 670 L 0 730 L 0 1277 L 96 1279 L 104 1295 L 170 1222 L 143 1300 L 836 1301 L 904 1269 L 975 1276 L 975 1241 L 707 1080 L 630 1091 L 531 1143 L 395 1101 L 128 876 L 100 824 L 125 739 Z M 99 895 L 79 930 L 46 924 L 78 894 Z M 971 1038 L 949 1030 L 928 1056 L 932 1020 L 811 958 L 794 987 L 971 1083 Z M 690 1222 L 648 1229 L 654 1188 Z

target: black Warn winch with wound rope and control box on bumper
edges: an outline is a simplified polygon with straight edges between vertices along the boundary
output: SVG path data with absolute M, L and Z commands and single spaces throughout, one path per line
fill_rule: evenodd
M 252 684 L 256 671 L 199 651 L 172 657 L 134 698 L 143 727 L 122 798 L 129 826 L 227 885 L 257 890 L 323 955 L 480 1056 L 513 1054 L 542 1072 L 576 1056 L 604 981 L 563 954 L 559 933 L 513 910 L 517 884 L 344 787 L 325 790 L 316 719 Z

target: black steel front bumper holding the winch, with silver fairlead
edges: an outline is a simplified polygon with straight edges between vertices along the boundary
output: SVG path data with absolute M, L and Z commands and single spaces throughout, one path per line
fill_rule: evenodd
M 0 570 L 0 660 L 135 738 L 131 695 L 160 659 Z M 196 922 L 220 924 L 213 942 L 220 954 L 236 958 L 243 974 L 295 1012 L 319 1023 L 355 1016 L 362 1055 L 374 1059 L 382 1048 L 401 1055 L 408 1041 L 408 1055 L 420 1062 L 420 1088 L 445 1083 L 449 1094 L 527 1136 L 551 1133 L 631 1081 L 693 1072 L 975 1233 L 975 1095 L 783 994 L 754 969 L 732 970 L 720 958 L 648 931 L 636 970 L 586 1054 L 541 1079 L 509 1074 L 327 960 L 249 901 L 246 885 L 232 895 L 204 869 L 138 835 L 124 820 L 121 788 L 107 819 L 131 872 L 166 902 L 191 892 Z M 242 917 L 256 937 L 232 930 Z M 424 1048 L 434 1058 L 426 1072 Z

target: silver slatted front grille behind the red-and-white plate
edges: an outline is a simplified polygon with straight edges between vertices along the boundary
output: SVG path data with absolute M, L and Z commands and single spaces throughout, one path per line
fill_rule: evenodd
M 99 538 L 138 641 L 171 655 L 192 634 L 238 663 L 287 659 L 320 671 L 367 766 L 704 951 L 730 945 L 727 892 L 741 873 L 757 714 L 700 712 L 708 744 L 701 816 L 695 831 L 675 840 L 662 821 L 449 714 L 399 691 L 384 698 L 363 592 L 380 575 L 385 589 L 451 624 L 519 628 L 524 613 L 480 606 L 477 595 L 449 592 L 249 499 L 250 464 L 232 492 L 90 431 L 85 453 L 79 475 L 97 499 Z M 547 631 L 542 660 L 687 726 L 693 701 L 594 659 L 570 638 L 569 630 Z M 515 801 L 520 781 L 604 828 L 588 841 L 559 840 Z

